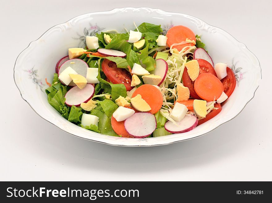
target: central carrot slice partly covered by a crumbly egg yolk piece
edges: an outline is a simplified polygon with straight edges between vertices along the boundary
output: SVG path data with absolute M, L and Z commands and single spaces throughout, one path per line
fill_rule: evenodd
M 151 107 L 149 112 L 152 114 L 157 113 L 163 105 L 163 96 L 161 92 L 153 85 L 141 85 L 134 91 L 132 98 L 137 95 L 141 95 L 142 99 L 144 99 Z

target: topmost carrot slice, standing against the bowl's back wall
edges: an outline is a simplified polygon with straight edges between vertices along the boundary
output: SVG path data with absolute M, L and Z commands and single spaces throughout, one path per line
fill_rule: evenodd
M 167 36 L 167 45 L 170 47 L 172 44 L 177 44 L 181 43 L 188 38 L 189 40 L 194 40 L 196 41 L 195 34 L 193 33 L 192 30 L 190 30 L 188 27 L 178 25 L 170 28 L 168 32 L 166 33 Z M 181 44 L 177 46 L 173 46 L 173 48 L 176 48 L 178 51 L 181 51 L 186 46 L 194 46 L 192 43 L 186 43 L 186 44 Z

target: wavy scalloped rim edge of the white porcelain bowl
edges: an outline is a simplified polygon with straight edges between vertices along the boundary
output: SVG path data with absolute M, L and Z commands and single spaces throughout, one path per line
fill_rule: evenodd
M 195 20 L 198 20 L 200 21 L 201 23 L 203 23 L 204 25 L 206 26 L 210 26 L 212 28 L 216 28 L 220 31 L 223 31 L 225 33 L 227 33 L 229 36 L 231 36 L 233 38 L 233 40 L 236 41 L 236 43 L 240 44 L 240 45 L 243 45 L 244 46 L 244 49 L 246 49 L 247 51 L 249 51 L 251 54 L 253 54 L 247 47 L 244 43 L 236 40 L 231 34 L 229 34 L 228 32 L 226 32 L 225 30 L 219 28 L 219 27 L 215 27 L 215 26 L 211 26 L 210 24 L 204 22 L 203 20 L 201 19 L 198 19 L 196 17 L 193 17 L 191 15 L 187 15 L 187 14 L 182 14 L 182 13 L 176 13 L 176 12 L 167 12 L 167 11 L 163 11 L 163 10 L 160 10 L 160 9 L 151 9 L 151 8 L 147 8 L 147 7 L 139 7 L 139 8 L 132 8 L 132 7 L 124 7 L 124 8 L 115 8 L 113 10 L 110 10 L 110 11 L 99 11 L 99 12 L 91 12 L 91 13 L 86 13 L 86 14 L 83 14 L 83 15 L 78 15 L 68 21 L 66 21 L 65 23 L 68 23 L 74 19 L 77 19 L 81 16 L 84 16 L 84 15 L 92 15 L 92 14 L 101 14 L 101 15 L 104 15 L 104 14 L 112 14 L 112 13 L 117 13 L 119 11 L 125 11 L 125 10 L 132 10 L 132 11 L 140 11 L 140 10 L 146 10 L 146 11 L 149 11 L 149 12 L 156 12 L 157 14 L 165 14 L 165 15 L 181 15 L 183 17 L 186 17 L 186 18 L 191 18 L 191 19 L 195 19 Z M 62 26 L 64 25 L 65 23 L 60 23 L 60 24 L 57 24 L 51 28 L 49 28 L 47 31 L 45 31 L 37 40 L 39 40 L 40 38 L 42 38 L 48 31 L 50 31 L 51 29 L 53 29 L 54 27 L 57 27 L 57 26 Z M 16 61 L 15 61 L 15 65 L 14 65 L 14 81 L 15 81 L 15 84 L 16 84 L 16 87 L 18 88 L 20 94 L 21 94 L 21 97 L 29 104 L 29 106 L 34 110 L 34 112 L 36 112 L 41 118 L 45 119 L 45 121 L 48 121 L 49 123 L 55 125 L 57 128 L 61 129 L 62 131 L 66 132 L 66 133 L 69 133 L 75 137 L 80 137 L 80 138 L 83 138 L 83 139 L 86 139 L 86 140 L 90 140 L 90 141 L 94 141 L 94 142 L 100 142 L 100 143 L 104 143 L 104 144 L 108 144 L 108 145 L 113 145 L 113 146 L 160 146 L 160 145 L 167 145 L 167 144 L 171 144 L 171 143 L 175 143 L 175 142 L 181 142 L 181 141 L 185 141 L 185 140 L 189 140 L 189 139 L 193 139 L 193 138 L 196 138 L 196 137 L 200 137 L 202 135 L 205 135 L 207 133 L 210 133 L 211 131 L 215 130 L 216 128 L 218 128 L 219 126 L 223 125 L 224 123 L 228 122 L 228 121 L 231 121 L 233 118 L 235 118 L 244 108 L 245 106 L 249 103 L 249 101 L 251 99 L 253 99 L 253 97 L 255 96 L 255 92 L 257 91 L 257 88 L 259 87 L 259 80 L 261 79 L 261 66 L 260 66 L 260 62 L 258 61 L 257 57 L 253 54 L 253 56 L 255 57 L 255 60 L 257 60 L 258 62 L 258 67 L 259 68 L 259 73 L 260 73 L 260 76 L 259 78 L 256 78 L 256 87 L 254 87 L 254 91 L 253 91 L 253 95 L 248 99 L 248 101 L 246 101 L 246 103 L 244 104 L 243 108 L 236 113 L 236 115 L 232 116 L 230 119 L 228 119 L 227 121 L 224 121 L 222 123 L 219 123 L 218 125 L 216 125 L 213 129 L 209 130 L 208 132 L 205 132 L 205 133 L 202 133 L 202 134 L 198 134 L 197 136 L 194 136 L 194 137 L 190 137 L 190 135 L 188 136 L 185 136 L 186 138 L 184 138 L 182 136 L 182 134 L 184 133 L 180 133 L 180 134 L 173 134 L 173 135 L 180 135 L 178 137 L 173 137 L 173 135 L 169 135 L 169 136 L 162 136 L 162 137 L 152 137 L 152 138 L 142 138 L 142 139 L 137 139 L 137 138 L 124 138 L 124 137 L 114 137 L 113 136 L 107 136 L 107 135 L 103 135 L 101 134 L 101 139 L 97 138 L 97 137 L 81 137 L 80 135 L 77 135 L 75 133 L 71 133 L 71 132 L 68 132 L 64 126 L 58 126 L 56 125 L 55 123 L 53 123 L 53 121 L 49 121 L 47 120 L 46 118 L 44 118 L 42 115 L 40 115 L 39 112 L 36 111 L 36 109 L 34 109 L 32 107 L 32 105 L 30 104 L 30 102 L 28 102 L 28 99 L 26 98 L 27 96 L 22 93 L 22 87 L 21 87 L 21 84 L 20 82 L 17 80 L 16 81 L 16 77 L 15 77 L 15 71 L 16 71 L 16 68 L 17 68 L 17 60 L 19 59 L 19 57 L 28 49 L 31 47 L 32 43 L 36 42 L 37 40 L 34 40 L 32 42 L 29 43 L 28 47 L 26 49 L 24 49 L 19 55 L 18 57 L 16 58 Z M 21 88 L 20 88 L 21 87 Z M 58 113 L 58 112 L 56 112 Z M 69 122 L 69 121 L 67 121 Z M 69 122 L 68 125 L 74 125 L 72 123 Z M 76 125 L 74 125 L 76 126 Z M 80 128 L 80 127 L 79 127 Z M 85 130 L 85 129 L 84 129 Z M 87 130 L 86 130 L 87 131 Z M 95 133 L 95 132 L 92 132 L 92 131 L 89 131 L 90 134 L 92 133 Z M 99 134 L 99 133 L 96 133 L 96 134 Z M 182 138 L 183 137 L 183 138 Z M 152 141 L 155 141 L 155 142 L 152 142 Z M 150 142 L 150 143 L 149 143 Z

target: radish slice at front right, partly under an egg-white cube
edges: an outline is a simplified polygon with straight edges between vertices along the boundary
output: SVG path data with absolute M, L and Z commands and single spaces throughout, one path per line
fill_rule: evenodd
M 176 124 L 177 125 L 172 121 L 167 121 L 164 128 L 169 133 L 186 133 L 198 125 L 198 119 L 191 114 L 186 114 L 185 117 L 181 121 L 176 122 Z

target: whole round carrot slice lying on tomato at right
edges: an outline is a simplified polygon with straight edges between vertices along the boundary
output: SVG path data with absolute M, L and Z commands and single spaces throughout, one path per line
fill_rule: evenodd
M 194 90 L 200 98 L 213 101 L 221 96 L 224 87 L 222 82 L 213 74 L 202 73 L 194 82 Z

